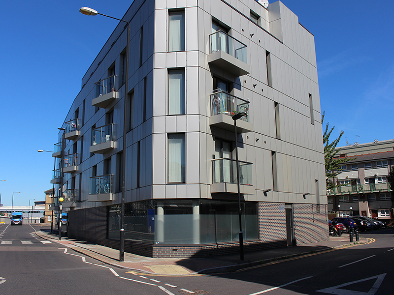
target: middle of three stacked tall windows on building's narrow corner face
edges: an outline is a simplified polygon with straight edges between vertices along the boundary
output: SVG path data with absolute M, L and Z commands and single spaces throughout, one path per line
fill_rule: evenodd
M 185 114 L 185 70 L 168 71 L 168 115 Z

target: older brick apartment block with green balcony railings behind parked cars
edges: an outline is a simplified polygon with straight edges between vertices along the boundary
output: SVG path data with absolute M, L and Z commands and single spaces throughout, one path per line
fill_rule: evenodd
M 349 158 L 333 179 L 341 186 L 328 194 L 328 213 L 339 216 L 368 216 L 394 219 L 393 191 L 387 177 L 394 168 L 394 140 L 375 140 L 338 148 L 338 157 Z

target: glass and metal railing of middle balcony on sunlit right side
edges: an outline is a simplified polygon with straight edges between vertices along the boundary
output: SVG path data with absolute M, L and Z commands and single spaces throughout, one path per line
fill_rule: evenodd
M 222 89 L 216 89 L 211 94 L 212 116 L 225 114 L 233 116 L 237 113 L 246 113 L 241 120 L 249 122 L 249 101 L 231 95 Z

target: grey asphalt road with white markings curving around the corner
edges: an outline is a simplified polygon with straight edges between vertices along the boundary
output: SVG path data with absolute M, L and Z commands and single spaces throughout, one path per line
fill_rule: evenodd
M 272 262 L 232 273 L 188 277 L 130 273 L 37 238 L 39 226 L 0 225 L 0 295 L 394 294 L 394 230 L 363 234 L 370 242 Z M 44 292 L 45 291 L 45 292 Z M 191 293 L 194 292 L 194 293 Z

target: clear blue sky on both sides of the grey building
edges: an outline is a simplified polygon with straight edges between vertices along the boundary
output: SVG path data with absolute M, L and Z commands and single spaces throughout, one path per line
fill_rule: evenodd
M 321 109 L 339 146 L 394 139 L 393 0 L 283 0 L 315 36 Z M 45 200 L 57 142 L 81 79 L 131 0 L 3 1 L 0 12 L 1 203 Z M 33 202 L 33 200 L 32 200 Z

